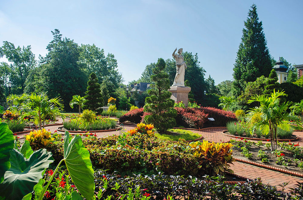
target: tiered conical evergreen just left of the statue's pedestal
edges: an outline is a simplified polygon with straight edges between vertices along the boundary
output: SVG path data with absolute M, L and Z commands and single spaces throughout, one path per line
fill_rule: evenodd
M 168 74 L 165 73 L 165 61 L 158 59 L 156 67 L 152 70 L 151 81 L 155 83 L 153 89 L 148 90 L 149 97 L 146 97 L 144 111 L 151 113 L 145 116 L 148 124 L 154 124 L 160 134 L 164 134 L 167 129 L 176 125 L 175 117 L 177 111 L 174 109 L 174 100 L 170 99 Z

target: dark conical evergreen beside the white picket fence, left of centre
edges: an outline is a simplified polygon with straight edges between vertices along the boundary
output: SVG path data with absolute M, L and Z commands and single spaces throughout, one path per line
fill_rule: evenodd
M 85 92 L 86 96 L 84 96 L 85 101 L 82 108 L 89 109 L 100 114 L 102 112 L 101 107 L 103 103 L 100 84 L 98 83 L 98 79 L 95 73 L 91 73 L 88 79 L 88 87 L 87 91 Z

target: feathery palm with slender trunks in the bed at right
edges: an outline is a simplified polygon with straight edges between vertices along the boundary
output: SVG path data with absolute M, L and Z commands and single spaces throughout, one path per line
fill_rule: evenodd
M 271 151 L 277 149 L 277 128 L 289 131 L 292 124 L 290 121 L 294 121 L 298 127 L 302 126 L 300 119 L 297 116 L 291 115 L 287 112 L 291 102 L 280 103 L 280 96 L 287 96 L 283 91 L 271 93 L 269 97 L 265 95 L 255 95 L 248 100 L 248 103 L 259 102 L 260 106 L 252 108 L 247 114 L 247 121 L 251 121 L 251 118 L 257 114 L 261 114 L 261 119 L 253 122 L 251 125 L 251 132 L 255 129 L 260 129 L 262 134 L 270 133 L 271 139 Z

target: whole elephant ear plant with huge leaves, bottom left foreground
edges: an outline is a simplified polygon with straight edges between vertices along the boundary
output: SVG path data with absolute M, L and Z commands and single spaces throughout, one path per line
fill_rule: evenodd
M 43 174 L 53 161 L 52 153 L 45 149 L 32 151 L 26 140 L 19 150 L 14 144 L 14 136 L 12 131 L 8 129 L 8 125 L 1 123 L 0 199 L 31 199 L 31 193 L 35 189 L 35 191 L 41 191 L 38 199 L 42 200 L 62 161 L 65 161 L 66 168 L 79 192 L 88 200 L 93 198 L 94 171 L 89 152 L 82 144 L 80 136 L 71 138 L 69 133 L 65 132 L 64 158 L 59 162 L 50 180 L 43 187 Z

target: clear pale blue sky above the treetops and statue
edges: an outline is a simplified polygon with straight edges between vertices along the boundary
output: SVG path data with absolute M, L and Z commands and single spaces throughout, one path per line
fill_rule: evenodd
M 0 0 L 0 41 L 47 53 L 51 31 L 78 44 L 113 53 L 125 83 L 177 47 L 198 53 L 218 84 L 232 79 L 248 9 L 255 3 L 271 56 L 303 64 L 303 1 L 5 1 Z M 4 58 L 0 61 L 5 61 Z

